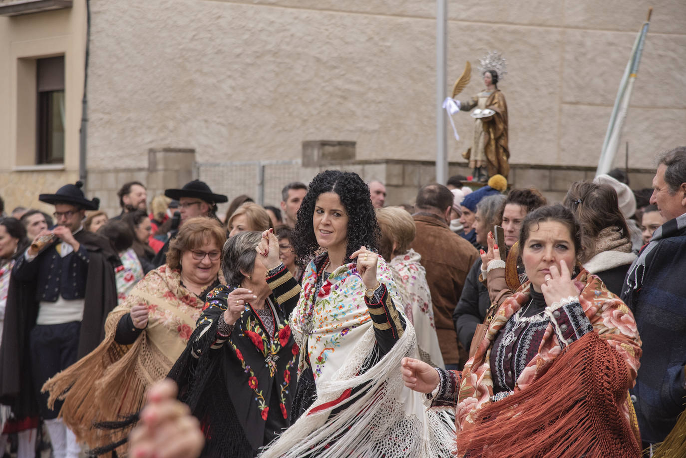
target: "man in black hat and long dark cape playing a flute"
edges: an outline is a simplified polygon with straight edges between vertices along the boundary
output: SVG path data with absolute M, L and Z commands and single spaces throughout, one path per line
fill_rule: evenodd
M 81 186 L 39 196 L 55 206 L 57 225 L 36 237 L 51 233 L 52 240 L 32 245 L 14 264 L 0 349 L 0 399 L 9 400 L 20 418 L 38 408 L 58 458 L 76 458 L 80 447 L 57 418 L 61 402 L 49 409 L 40 389 L 97 346 L 104 319 L 117 305 L 113 263 L 119 258 L 108 240 L 83 228 L 86 210 L 97 209 L 99 201 L 86 199 Z

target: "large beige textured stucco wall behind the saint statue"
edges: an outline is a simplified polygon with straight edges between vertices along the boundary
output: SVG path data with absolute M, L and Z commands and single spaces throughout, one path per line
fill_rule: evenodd
M 92 4 L 93 168 L 130 168 L 166 144 L 198 161 L 296 159 L 307 139 L 357 141 L 358 159 L 434 157 L 434 1 Z M 622 138 L 630 165 L 649 168 L 685 141 L 681 0 L 450 2 L 449 84 L 465 60 L 501 51 L 512 162 L 595 165 L 650 5 Z M 480 89 L 474 71 L 462 98 Z M 471 117 L 456 122 L 469 139 Z M 449 159 L 466 146 L 450 135 Z

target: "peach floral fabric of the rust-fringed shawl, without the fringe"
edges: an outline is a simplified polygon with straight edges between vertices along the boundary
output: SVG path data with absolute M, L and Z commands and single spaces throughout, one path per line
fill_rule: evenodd
M 593 332 L 619 352 L 626 363 L 630 380 L 635 380 L 641 355 L 641 340 L 632 313 L 624 302 L 607 290 L 600 278 L 589 275 L 586 270 L 582 269 L 576 277 L 575 285 L 579 290 L 579 303 L 584 314 L 591 321 Z M 471 413 L 490 402 L 490 397 L 493 396 L 490 367 L 493 341 L 512 314 L 528 304 L 530 286 L 530 282 L 526 282 L 501 304 L 488 325 L 486 335 L 477 347 L 475 355 L 464 366 L 456 409 L 459 430 L 462 430 L 466 423 L 473 423 Z M 514 391 L 527 389 L 531 382 L 547 371 L 561 352 L 562 346 L 558 342 L 553 325 L 548 323 L 539 351 L 517 378 Z M 630 412 L 626 402 L 622 404 L 622 410 L 628 422 Z

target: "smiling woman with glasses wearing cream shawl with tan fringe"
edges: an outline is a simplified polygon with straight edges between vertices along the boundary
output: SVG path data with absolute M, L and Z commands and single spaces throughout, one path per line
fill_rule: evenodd
M 213 218 L 191 218 L 169 245 L 165 265 L 150 271 L 108 315 L 104 341 L 47 381 L 49 402 L 91 448 L 126 437 L 95 422 L 139 411 L 151 383 L 164 378 L 185 349 L 209 291 L 220 285 L 226 230 Z M 121 450 L 119 450 L 121 451 Z

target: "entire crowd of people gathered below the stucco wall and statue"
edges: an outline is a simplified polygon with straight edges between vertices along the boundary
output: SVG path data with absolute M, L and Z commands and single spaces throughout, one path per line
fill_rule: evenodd
M 686 147 L 652 184 L 0 201 L 0 454 L 685 456 Z

